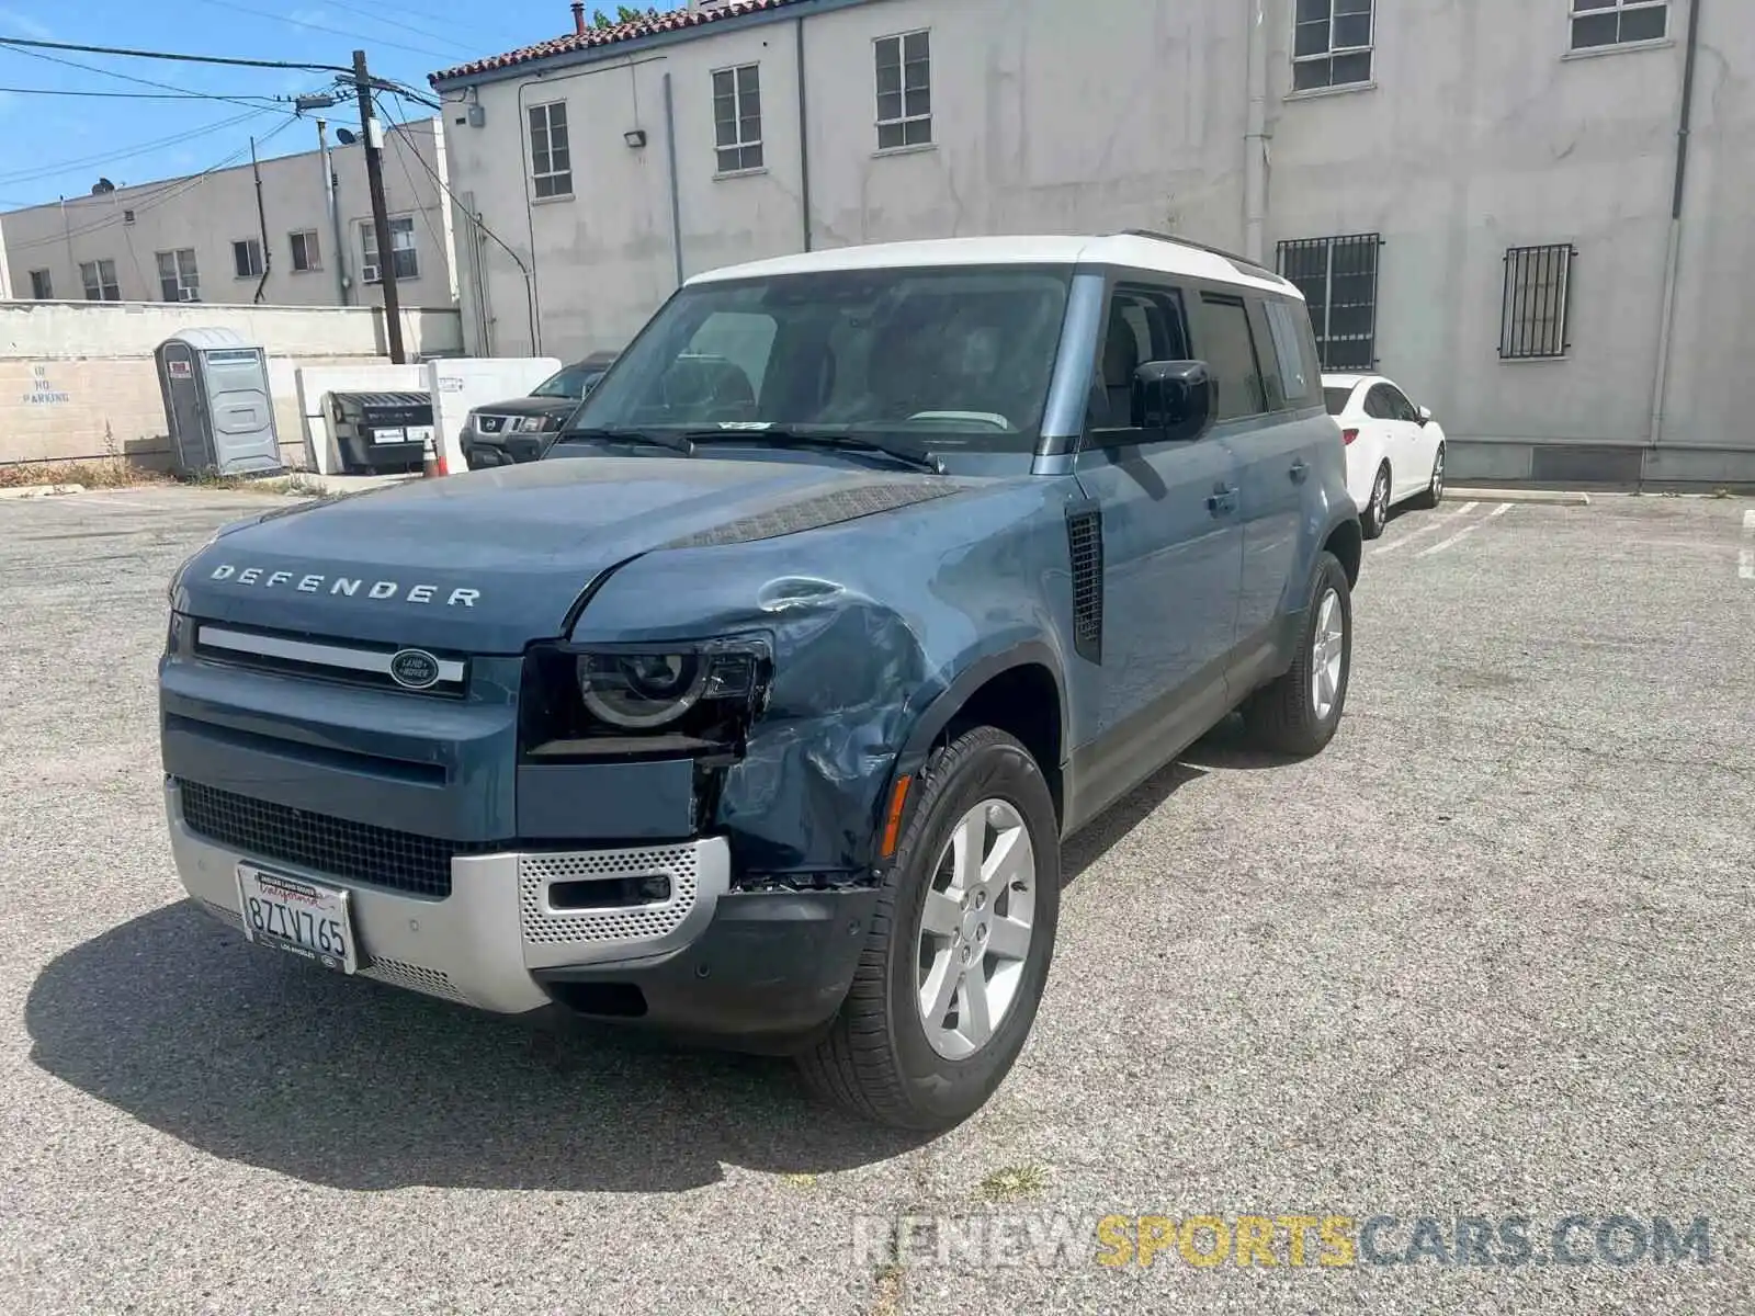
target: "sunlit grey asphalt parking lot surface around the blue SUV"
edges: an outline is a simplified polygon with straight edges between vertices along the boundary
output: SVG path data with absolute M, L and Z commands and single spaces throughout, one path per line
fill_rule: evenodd
M 934 1141 L 784 1065 L 535 1035 L 190 912 L 163 590 L 260 505 L 0 504 L 9 1316 L 1755 1307 L 1755 504 L 1392 521 L 1336 742 L 1274 765 L 1221 728 L 1078 839 L 1035 1035 Z M 1574 1212 L 1706 1218 L 1711 1260 L 855 1246 L 899 1216 L 1381 1214 L 1379 1253 L 1420 1216 L 1529 1216 L 1539 1251 Z

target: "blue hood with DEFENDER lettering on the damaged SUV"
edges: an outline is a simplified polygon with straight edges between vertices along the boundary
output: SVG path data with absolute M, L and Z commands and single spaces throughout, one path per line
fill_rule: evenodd
M 532 461 L 302 504 L 221 532 L 179 612 L 283 632 L 521 653 L 560 635 L 607 569 L 956 493 L 971 481 L 795 461 Z

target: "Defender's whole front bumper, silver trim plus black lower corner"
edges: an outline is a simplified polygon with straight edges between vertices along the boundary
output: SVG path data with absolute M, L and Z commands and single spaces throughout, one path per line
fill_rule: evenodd
M 665 1032 L 769 1046 L 839 1009 L 876 890 L 739 893 L 723 837 L 634 849 L 465 855 L 451 893 L 419 897 L 218 844 L 165 786 L 184 890 L 242 930 L 237 863 L 351 893 L 360 974 L 498 1014 L 553 1004 Z M 670 895 L 637 907 L 556 909 L 549 888 L 662 872 Z

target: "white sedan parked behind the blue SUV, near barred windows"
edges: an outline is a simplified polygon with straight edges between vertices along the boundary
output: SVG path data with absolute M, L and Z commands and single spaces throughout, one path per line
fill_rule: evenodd
M 1365 539 L 1383 533 L 1390 507 L 1437 507 L 1444 493 L 1444 428 L 1383 375 L 1322 377 L 1329 414 L 1346 440 L 1346 490 Z

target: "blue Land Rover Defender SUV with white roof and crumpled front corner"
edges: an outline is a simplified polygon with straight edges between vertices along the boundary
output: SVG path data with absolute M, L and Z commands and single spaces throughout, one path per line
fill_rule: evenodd
M 1271 270 L 1153 233 L 716 270 L 542 460 L 177 570 L 170 844 L 253 942 L 942 1128 L 1041 1007 L 1062 840 L 1236 709 L 1334 735 L 1358 563 Z

